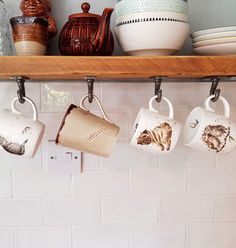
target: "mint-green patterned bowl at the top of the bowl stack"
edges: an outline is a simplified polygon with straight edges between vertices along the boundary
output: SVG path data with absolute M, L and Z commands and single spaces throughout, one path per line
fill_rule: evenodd
M 187 2 L 183 0 L 122 0 L 115 6 L 116 17 L 123 15 L 168 11 L 187 15 Z

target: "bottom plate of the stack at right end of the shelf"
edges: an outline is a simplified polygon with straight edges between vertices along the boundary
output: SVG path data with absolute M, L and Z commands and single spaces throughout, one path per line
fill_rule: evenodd
M 236 42 L 194 48 L 199 55 L 236 55 Z

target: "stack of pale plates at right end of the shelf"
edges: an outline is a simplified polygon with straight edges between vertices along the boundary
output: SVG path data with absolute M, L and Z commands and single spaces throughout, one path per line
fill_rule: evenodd
M 211 28 L 194 32 L 193 51 L 200 55 L 235 55 L 236 26 Z

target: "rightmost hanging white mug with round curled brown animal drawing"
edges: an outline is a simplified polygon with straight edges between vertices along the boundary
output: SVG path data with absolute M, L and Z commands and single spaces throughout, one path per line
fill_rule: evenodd
M 201 151 L 230 152 L 236 145 L 236 125 L 230 120 L 230 106 L 220 96 L 224 114 L 220 115 L 210 107 L 212 95 L 205 100 L 205 108 L 196 107 L 185 121 L 183 142 Z

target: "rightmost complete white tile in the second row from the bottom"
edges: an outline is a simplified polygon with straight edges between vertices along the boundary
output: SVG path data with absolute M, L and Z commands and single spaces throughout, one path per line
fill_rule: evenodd
M 161 222 L 211 222 L 214 201 L 207 197 L 170 197 L 160 200 Z

